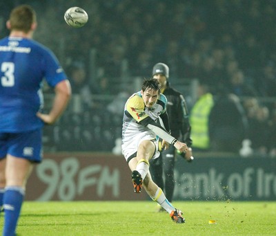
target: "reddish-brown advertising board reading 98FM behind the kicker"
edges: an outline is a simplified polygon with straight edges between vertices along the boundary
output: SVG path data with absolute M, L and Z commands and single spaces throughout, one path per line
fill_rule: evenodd
M 139 195 L 139 196 L 138 196 Z M 26 200 L 144 200 L 133 192 L 124 157 L 114 155 L 47 155 L 29 178 Z

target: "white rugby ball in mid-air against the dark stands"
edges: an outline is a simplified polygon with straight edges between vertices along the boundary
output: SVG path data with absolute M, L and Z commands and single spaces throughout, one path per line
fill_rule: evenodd
M 80 28 L 88 21 L 88 15 L 82 8 L 74 6 L 66 10 L 64 19 L 69 26 Z

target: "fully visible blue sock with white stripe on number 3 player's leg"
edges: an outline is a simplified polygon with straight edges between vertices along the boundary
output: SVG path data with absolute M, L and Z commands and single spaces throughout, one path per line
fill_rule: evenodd
M 3 197 L 3 208 L 5 210 L 3 236 L 15 235 L 24 195 L 25 191 L 21 187 L 10 186 L 5 188 Z

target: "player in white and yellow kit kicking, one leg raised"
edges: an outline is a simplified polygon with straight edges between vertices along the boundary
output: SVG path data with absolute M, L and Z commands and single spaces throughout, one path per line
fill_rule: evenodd
M 122 152 L 132 171 L 134 191 L 141 192 L 142 185 L 153 201 L 159 203 L 169 214 L 172 221 L 184 223 L 185 219 L 166 199 L 164 192 L 153 181 L 149 172 L 149 160 L 158 158 L 157 143 L 163 139 L 162 146 L 174 145 L 180 152 L 188 149 L 170 135 L 166 97 L 160 93 L 160 84 L 156 79 L 144 80 L 141 91 L 128 98 L 123 118 Z M 162 125 L 157 124 L 157 119 Z

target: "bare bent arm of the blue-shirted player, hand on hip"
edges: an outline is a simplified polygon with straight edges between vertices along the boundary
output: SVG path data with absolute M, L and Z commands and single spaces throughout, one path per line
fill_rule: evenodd
M 59 82 L 55 87 L 55 98 L 49 114 L 37 112 L 37 116 L 48 125 L 53 124 L 63 113 L 71 97 L 71 86 L 68 80 Z

